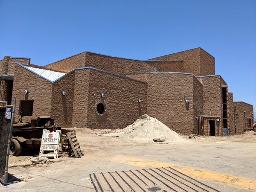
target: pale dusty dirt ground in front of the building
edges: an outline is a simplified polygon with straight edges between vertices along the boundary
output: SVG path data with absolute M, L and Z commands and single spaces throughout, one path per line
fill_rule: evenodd
M 256 191 L 256 135 L 198 137 L 182 142 L 154 143 L 109 137 L 110 130 L 75 128 L 82 158 L 60 154 L 60 162 L 9 168 L 21 181 L 0 184 L 6 192 L 95 192 L 89 175 L 173 167 L 221 192 Z M 112 131 L 113 132 L 113 131 Z M 38 150 L 10 156 L 9 163 L 36 156 Z

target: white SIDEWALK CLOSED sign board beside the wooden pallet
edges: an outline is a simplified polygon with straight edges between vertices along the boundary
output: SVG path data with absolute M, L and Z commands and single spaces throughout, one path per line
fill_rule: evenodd
M 61 137 L 61 131 L 50 132 L 43 130 L 39 157 L 53 157 L 58 158 L 58 148 Z

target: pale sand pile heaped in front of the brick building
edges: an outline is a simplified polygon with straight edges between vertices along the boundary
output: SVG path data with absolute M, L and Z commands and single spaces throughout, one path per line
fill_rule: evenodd
M 164 125 L 157 119 L 148 115 L 140 116 L 132 125 L 122 129 L 122 132 L 116 133 L 117 136 L 126 136 L 133 140 L 153 140 L 154 138 L 165 139 L 166 141 L 184 140 L 175 131 Z M 110 136 L 110 134 L 109 134 Z

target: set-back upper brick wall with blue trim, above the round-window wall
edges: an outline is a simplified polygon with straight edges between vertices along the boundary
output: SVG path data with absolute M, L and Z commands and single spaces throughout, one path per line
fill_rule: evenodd
M 154 72 L 156 68 L 144 61 L 116 58 L 107 55 L 86 52 L 85 67 L 94 67 L 122 76 L 130 73 Z

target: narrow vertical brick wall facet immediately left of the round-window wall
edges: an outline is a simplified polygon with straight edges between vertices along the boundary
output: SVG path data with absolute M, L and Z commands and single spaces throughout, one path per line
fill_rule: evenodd
M 75 71 L 72 127 L 87 126 L 89 70 Z

